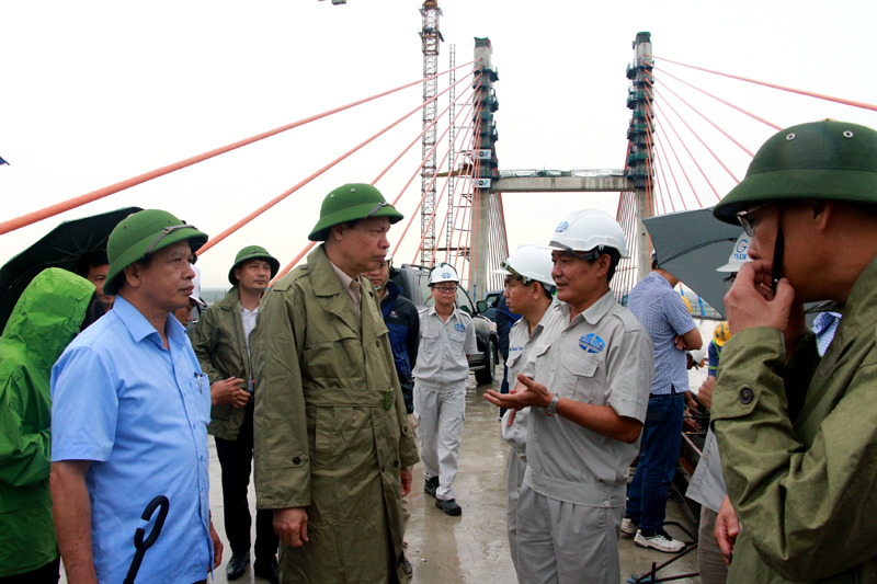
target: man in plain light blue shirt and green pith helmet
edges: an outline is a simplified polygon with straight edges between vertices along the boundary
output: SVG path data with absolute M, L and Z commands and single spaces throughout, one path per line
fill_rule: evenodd
M 192 254 L 206 241 L 162 210 L 125 218 L 107 242 L 113 310 L 53 368 L 52 502 L 71 584 L 125 580 L 157 495 L 169 511 L 137 580 L 204 582 L 221 561 L 208 508 L 209 381 L 170 318 L 189 302 Z

